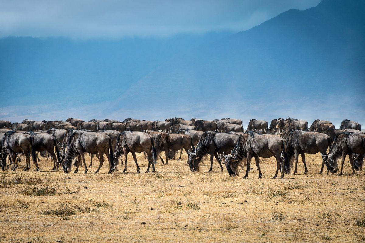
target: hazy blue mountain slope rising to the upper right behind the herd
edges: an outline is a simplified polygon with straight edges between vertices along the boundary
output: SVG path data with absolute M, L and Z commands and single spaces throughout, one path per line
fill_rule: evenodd
M 108 115 L 365 123 L 364 43 L 365 1 L 323 0 L 175 55 L 124 92 Z

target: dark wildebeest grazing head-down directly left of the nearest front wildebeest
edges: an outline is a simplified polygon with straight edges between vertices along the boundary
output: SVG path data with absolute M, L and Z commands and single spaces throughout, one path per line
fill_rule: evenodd
M 213 169 L 213 157 L 219 163 L 220 171 L 223 171 L 222 164 L 217 153 L 230 152 L 237 144 L 238 135 L 228 133 L 217 133 L 213 131 L 205 132 L 200 136 L 195 151 L 189 153 L 188 162 L 191 172 L 199 171 L 199 164 L 203 158 L 210 154 L 210 169 Z

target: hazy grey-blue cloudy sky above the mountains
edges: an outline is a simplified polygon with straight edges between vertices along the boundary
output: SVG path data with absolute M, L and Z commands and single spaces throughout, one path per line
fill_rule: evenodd
M 0 0 L 0 37 L 122 38 L 244 31 L 320 0 Z

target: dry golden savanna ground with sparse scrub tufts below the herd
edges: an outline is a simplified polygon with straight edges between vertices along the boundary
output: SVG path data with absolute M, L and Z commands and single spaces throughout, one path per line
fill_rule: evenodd
M 156 173 L 50 171 L 0 173 L 3 242 L 364 242 L 365 176 L 318 175 L 319 154 L 307 155 L 309 174 L 271 179 L 276 162 L 251 163 L 248 179 L 220 172 L 191 173 L 183 161 L 157 164 Z M 147 160 L 137 156 L 141 171 Z M 89 157 L 87 157 L 89 161 Z M 95 171 L 99 162 L 90 169 Z

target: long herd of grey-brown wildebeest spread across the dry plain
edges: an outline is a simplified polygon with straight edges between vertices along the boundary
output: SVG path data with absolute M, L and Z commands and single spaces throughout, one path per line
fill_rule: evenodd
M 110 119 L 85 122 L 68 118 L 66 121 L 31 121 L 22 123 L 0 121 L 1 169 L 15 171 L 18 163 L 25 158 L 24 171 L 31 168 L 30 159 L 39 171 L 39 156 L 51 158 L 53 170 L 60 166 L 65 173 L 84 165 L 88 172 L 84 153 L 99 160 L 99 172 L 103 166 L 104 154 L 109 163 L 109 173 L 115 172 L 119 163 L 123 172 L 127 171 L 127 155 L 132 154 L 140 171 L 135 153 L 144 153 L 148 160 L 147 171 L 155 171 L 158 160 L 168 164 L 168 160 L 183 150 L 188 154 L 187 164 L 191 172 L 199 171 L 199 165 L 205 157 L 210 157 L 212 171 L 214 158 L 221 171 L 226 165 L 230 176 L 239 175 L 239 167 L 246 167 L 245 177 L 250 171 L 250 162 L 254 158 L 258 168 L 258 178 L 262 178 L 260 157 L 274 157 L 277 178 L 285 173 L 297 173 L 298 157 L 304 164 L 304 173 L 308 172 L 305 154 L 320 153 L 322 168 L 327 173 L 342 174 L 345 157 L 349 156 L 352 173 L 361 170 L 365 156 L 365 134 L 361 124 L 343 120 L 339 129 L 330 121 L 315 120 L 308 128 L 308 122 L 295 118 L 273 119 L 267 121 L 251 119 L 247 130 L 239 119 L 223 118 L 214 121 L 192 118 L 169 118 L 165 121 L 145 121 L 127 118 L 124 121 Z M 328 151 L 328 152 L 327 152 Z M 164 155 L 162 155 L 164 153 Z M 122 155 L 124 157 L 122 157 Z M 164 157 L 165 161 L 164 161 Z M 124 158 L 124 161 L 123 161 Z M 341 168 L 338 160 L 341 158 Z M 119 161 L 120 160 L 120 161 Z M 293 170 L 294 168 L 294 170 Z

